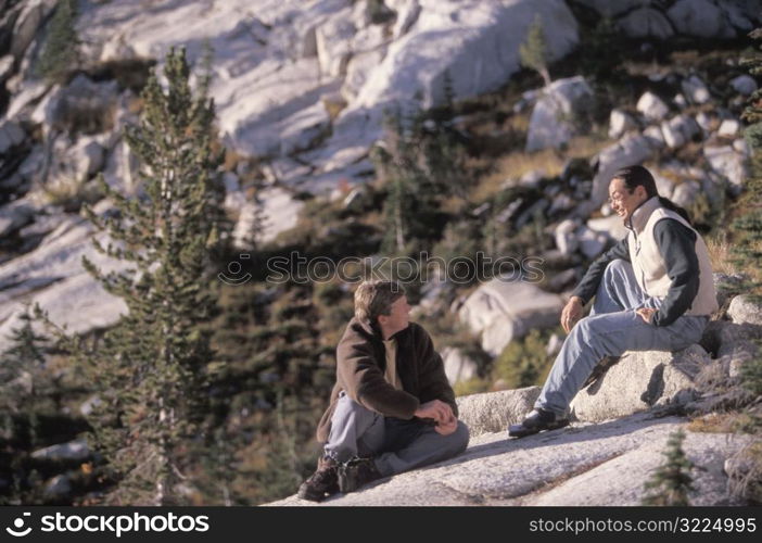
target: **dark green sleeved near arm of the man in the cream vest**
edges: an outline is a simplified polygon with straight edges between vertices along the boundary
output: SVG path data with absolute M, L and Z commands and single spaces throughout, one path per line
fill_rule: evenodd
M 690 308 L 698 293 L 696 233 L 677 220 L 664 218 L 653 227 L 653 237 L 672 285 L 651 324 L 669 326 Z

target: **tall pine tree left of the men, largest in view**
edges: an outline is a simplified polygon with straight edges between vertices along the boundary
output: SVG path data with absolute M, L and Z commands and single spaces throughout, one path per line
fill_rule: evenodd
M 98 388 L 90 422 L 120 480 L 117 503 L 186 500 L 179 483 L 189 482 L 188 444 L 203 430 L 213 359 L 206 325 L 215 311 L 211 261 L 225 228 L 216 175 L 224 154 L 213 150 L 214 102 L 193 96 L 183 49 L 167 53 L 164 77 L 166 89 L 151 74 L 141 122 L 125 132 L 141 163 L 142 193 L 128 199 L 101 177 L 118 214 L 86 209 L 112 240 L 106 247 L 93 240 L 96 249 L 125 269 L 106 274 L 87 258 L 82 264 L 129 313 L 98 343 L 68 342 Z

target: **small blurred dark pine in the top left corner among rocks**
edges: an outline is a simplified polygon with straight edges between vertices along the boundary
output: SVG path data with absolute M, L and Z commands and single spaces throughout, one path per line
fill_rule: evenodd
M 76 66 L 76 20 L 77 1 L 59 0 L 38 61 L 39 74 L 51 83 L 62 83 Z

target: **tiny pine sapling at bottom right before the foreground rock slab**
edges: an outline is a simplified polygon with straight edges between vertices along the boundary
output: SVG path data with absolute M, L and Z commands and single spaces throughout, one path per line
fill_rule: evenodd
M 690 505 L 688 493 L 694 490 L 690 468 L 693 463 L 683 451 L 685 432 L 681 429 L 670 434 L 666 451 L 662 453 L 666 462 L 657 468 L 653 476 L 644 485 L 651 491 L 643 500 L 643 505 Z

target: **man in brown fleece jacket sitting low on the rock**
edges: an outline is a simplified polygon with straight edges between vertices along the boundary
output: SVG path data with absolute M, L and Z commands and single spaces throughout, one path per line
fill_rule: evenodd
M 466 450 L 468 428 L 442 357 L 409 312 L 394 281 L 355 291 L 355 317 L 336 348 L 336 383 L 317 429 L 323 455 L 301 498 L 320 502 Z

